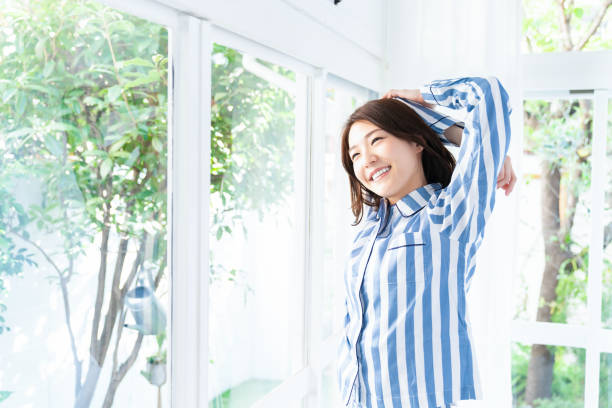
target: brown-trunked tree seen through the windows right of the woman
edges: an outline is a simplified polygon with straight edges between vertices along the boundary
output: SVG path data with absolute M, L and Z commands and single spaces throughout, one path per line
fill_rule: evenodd
M 575 5 L 573 0 L 556 0 L 542 8 L 542 3 L 524 0 L 523 35 L 528 51 L 611 48 L 611 39 L 595 35 L 611 4 L 605 0 L 591 10 Z M 575 241 L 572 227 L 576 204 L 590 185 L 591 111 L 591 101 L 586 99 L 525 103 L 526 151 L 542 158 L 545 266 L 536 318 L 542 322 L 564 322 L 570 301 L 585 301 L 588 247 Z M 611 236 L 606 237 L 606 246 Z M 531 347 L 524 394 L 520 395 L 527 404 L 558 395 L 553 380 L 558 365 L 555 356 L 568 352 L 546 345 Z M 581 395 L 572 395 L 582 399 Z

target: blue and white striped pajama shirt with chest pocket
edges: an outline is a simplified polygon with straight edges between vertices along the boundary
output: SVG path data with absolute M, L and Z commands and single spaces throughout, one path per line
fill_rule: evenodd
M 344 272 L 338 381 L 344 403 L 448 407 L 482 399 L 466 294 L 510 143 L 508 94 L 495 77 L 433 81 L 426 102 L 467 116 L 450 184 L 369 207 Z M 407 102 L 442 132 L 456 121 Z

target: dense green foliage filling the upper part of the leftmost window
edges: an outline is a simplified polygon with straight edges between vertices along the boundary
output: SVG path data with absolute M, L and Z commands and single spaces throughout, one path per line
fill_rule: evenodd
M 31 234 L 59 264 L 111 225 L 164 231 L 167 31 L 80 0 L 8 1 L 0 23 L 0 279 L 35 265 Z

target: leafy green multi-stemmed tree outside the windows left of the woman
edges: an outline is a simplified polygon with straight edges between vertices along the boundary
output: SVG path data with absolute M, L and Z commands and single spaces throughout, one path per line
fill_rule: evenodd
M 120 360 L 126 293 L 145 261 L 156 268 L 155 288 L 167 269 L 168 33 L 84 0 L 5 1 L 0 28 L 0 299 L 3 278 L 28 266 L 51 271 L 70 337 L 74 405 L 90 405 L 110 354 L 109 407 L 143 341 L 139 333 Z M 239 52 L 215 44 L 212 57 L 211 228 L 221 239 L 244 229 L 244 212 L 261 217 L 292 191 L 295 106 L 292 92 L 249 72 Z M 293 72 L 256 63 L 295 81 Z M 19 193 L 28 183 L 33 200 Z M 94 241 L 97 271 L 78 270 Z M 137 253 L 129 265 L 128 248 Z M 70 313 L 71 279 L 85 273 L 97 281 L 91 334 L 82 339 L 87 364 Z M 213 264 L 210 277 L 237 281 L 237 271 Z M 0 334 L 11 324 L 5 309 Z

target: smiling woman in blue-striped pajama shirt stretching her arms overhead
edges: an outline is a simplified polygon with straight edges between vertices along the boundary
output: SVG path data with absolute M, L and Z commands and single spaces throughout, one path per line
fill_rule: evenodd
M 462 124 L 429 108 L 465 108 Z M 516 182 L 508 94 L 495 77 L 391 90 L 342 132 L 356 234 L 338 380 L 354 407 L 481 399 L 466 293 L 495 203 Z M 444 144 L 460 147 L 457 163 Z

